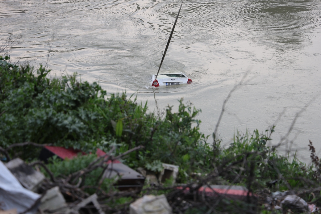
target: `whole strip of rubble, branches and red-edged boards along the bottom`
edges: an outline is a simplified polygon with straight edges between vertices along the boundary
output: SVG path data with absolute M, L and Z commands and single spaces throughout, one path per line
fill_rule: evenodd
M 138 168 L 137 171 L 121 163 L 119 159 L 132 151 L 142 148 L 135 147 L 125 153 L 113 157 L 111 152 L 105 153 L 97 150 L 97 156 L 89 165 L 67 176 L 55 176 L 45 164 L 48 158 L 57 156 L 61 160 L 74 158 L 83 154 L 79 150 L 63 147 L 45 146 L 39 159 L 26 163 L 20 158 L 15 158 L 3 163 L 0 161 L 0 214 L 172 214 L 184 213 L 190 208 L 202 209 L 202 207 L 226 206 L 230 202 L 238 201 L 243 204 L 245 210 L 253 210 L 256 204 L 263 204 L 266 210 L 282 210 L 284 213 L 314 213 L 319 209 L 313 203 L 307 203 L 301 197 L 302 192 L 276 191 L 268 189 L 263 192 L 252 192 L 240 185 L 214 185 L 213 179 L 228 167 L 222 167 L 221 171 L 198 176 L 198 181 L 188 184 L 176 184 L 179 166 L 162 163 L 163 169 L 158 176 L 150 171 Z M 49 175 L 46 176 L 39 170 Z M 82 177 L 88 175 L 97 168 L 103 171 L 97 180 L 97 186 L 84 186 Z M 105 178 L 113 178 L 113 187 L 117 191 L 104 192 L 101 181 Z M 166 180 L 170 186 L 164 186 Z M 143 185 L 147 187 L 143 189 Z M 88 193 L 85 188 L 96 191 Z M 312 192 L 320 191 L 314 189 Z M 150 192 L 165 191 L 165 194 L 154 195 Z M 305 193 L 305 192 L 304 192 Z M 120 207 L 113 206 L 117 198 L 129 197 L 130 200 Z M 261 200 L 261 202 L 258 202 Z M 262 202 L 263 200 L 263 202 Z M 251 210 L 252 209 L 252 210 Z

